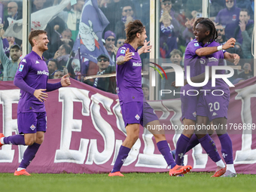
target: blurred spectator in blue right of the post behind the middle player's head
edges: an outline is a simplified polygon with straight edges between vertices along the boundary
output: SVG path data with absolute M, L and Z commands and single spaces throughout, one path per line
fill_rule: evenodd
M 160 56 L 169 57 L 173 49 L 178 48 L 175 26 L 172 25 L 172 17 L 168 12 L 164 12 L 160 18 Z

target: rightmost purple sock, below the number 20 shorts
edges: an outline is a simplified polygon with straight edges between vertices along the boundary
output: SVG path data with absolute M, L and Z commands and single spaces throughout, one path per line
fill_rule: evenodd
M 226 133 L 222 136 L 219 136 L 221 142 L 221 154 L 224 157 L 224 160 L 227 164 L 233 164 L 233 148 L 232 141 L 230 136 Z

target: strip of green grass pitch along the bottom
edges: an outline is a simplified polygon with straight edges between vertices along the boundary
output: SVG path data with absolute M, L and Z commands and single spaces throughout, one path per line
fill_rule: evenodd
M 1 191 L 255 191 L 256 175 L 237 178 L 210 178 L 213 173 L 192 172 L 185 177 L 170 177 L 164 173 L 126 173 L 124 177 L 108 174 L 33 174 L 14 176 L 0 173 Z

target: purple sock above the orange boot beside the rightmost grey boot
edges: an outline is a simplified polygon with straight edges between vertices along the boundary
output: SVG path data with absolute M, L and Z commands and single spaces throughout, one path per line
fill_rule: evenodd
M 209 155 L 209 157 L 216 163 L 219 160 L 221 160 L 220 155 L 218 154 L 218 150 L 216 148 L 215 142 L 212 140 L 212 138 L 207 134 L 201 139 L 198 139 L 206 153 Z

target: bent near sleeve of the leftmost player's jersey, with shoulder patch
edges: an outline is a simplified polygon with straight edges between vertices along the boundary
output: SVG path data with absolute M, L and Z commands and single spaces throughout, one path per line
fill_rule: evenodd
M 21 60 L 19 64 L 19 68 L 14 77 L 14 85 L 19 87 L 20 90 L 24 90 L 33 95 L 35 92 L 35 89 L 32 87 L 29 87 L 29 85 L 26 84 L 26 82 L 24 81 L 24 78 L 29 72 L 30 66 L 31 66 L 31 63 L 27 62 L 26 59 Z

